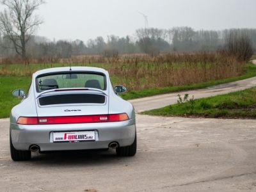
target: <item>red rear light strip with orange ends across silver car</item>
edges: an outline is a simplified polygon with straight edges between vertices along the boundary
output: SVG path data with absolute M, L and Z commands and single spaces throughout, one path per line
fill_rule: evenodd
M 126 113 L 113 115 L 83 115 L 83 116 L 45 116 L 45 117 L 20 117 L 17 124 L 45 125 L 45 124 L 84 124 L 100 122 L 123 122 L 129 120 Z

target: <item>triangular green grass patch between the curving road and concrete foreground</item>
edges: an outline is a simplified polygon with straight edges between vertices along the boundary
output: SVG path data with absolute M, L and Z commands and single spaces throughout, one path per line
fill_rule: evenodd
M 256 87 L 225 95 L 196 99 L 160 109 L 144 111 L 144 115 L 188 116 L 206 118 L 256 118 Z

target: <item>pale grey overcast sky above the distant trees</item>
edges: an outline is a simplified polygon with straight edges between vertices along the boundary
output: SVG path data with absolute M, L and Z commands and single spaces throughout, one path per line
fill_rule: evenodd
M 53 40 L 134 35 L 144 28 L 256 28 L 256 0 L 46 0 L 37 34 Z

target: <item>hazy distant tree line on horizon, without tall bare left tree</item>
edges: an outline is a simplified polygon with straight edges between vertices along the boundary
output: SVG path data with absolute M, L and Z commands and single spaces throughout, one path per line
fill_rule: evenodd
M 206 31 L 189 27 L 172 29 L 138 29 L 135 35 L 118 37 L 109 35 L 105 40 L 102 36 L 82 40 L 51 41 L 42 36 L 31 36 L 26 46 L 26 55 L 30 58 L 58 57 L 70 58 L 81 54 L 102 54 L 115 56 L 118 54 L 146 53 L 157 55 L 160 52 L 194 52 L 218 51 L 227 45 L 234 35 L 248 38 L 253 51 L 256 51 L 256 29 L 225 29 L 223 31 Z M 0 56 L 17 56 L 10 39 L 0 35 Z

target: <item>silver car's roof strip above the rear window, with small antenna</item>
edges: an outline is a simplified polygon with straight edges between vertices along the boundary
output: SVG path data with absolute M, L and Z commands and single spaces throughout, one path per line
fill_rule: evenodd
M 71 70 L 70 70 L 71 68 Z M 52 73 L 52 72 L 101 72 L 103 74 L 108 74 L 106 70 L 99 67 L 54 67 L 54 68 L 45 68 L 43 70 L 38 70 L 33 74 L 33 76 L 39 76 L 42 74 Z

